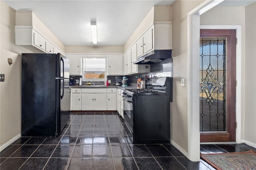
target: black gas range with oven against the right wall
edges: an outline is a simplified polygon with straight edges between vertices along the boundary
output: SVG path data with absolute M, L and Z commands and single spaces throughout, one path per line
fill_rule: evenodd
M 154 77 L 146 89 L 125 89 L 124 123 L 134 144 L 170 143 L 172 77 Z

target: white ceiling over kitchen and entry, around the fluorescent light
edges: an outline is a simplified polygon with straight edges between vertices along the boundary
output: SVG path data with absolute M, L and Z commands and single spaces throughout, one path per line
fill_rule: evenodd
M 2 0 L 14 10 L 32 11 L 65 46 L 92 44 L 90 22 L 97 22 L 98 46 L 124 45 L 153 6 L 175 0 Z M 246 6 L 255 0 L 225 0 Z

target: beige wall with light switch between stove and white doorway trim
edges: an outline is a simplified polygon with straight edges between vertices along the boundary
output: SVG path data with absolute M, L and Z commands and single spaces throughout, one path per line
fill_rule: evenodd
M 178 0 L 172 5 L 173 102 L 171 103 L 171 143 L 188 152 L 188 19 L 187 14 L 202 1 Z M 186 83 L 185 83 L 186 84 Z M 199 156 L 199 155 L 198 155 Z

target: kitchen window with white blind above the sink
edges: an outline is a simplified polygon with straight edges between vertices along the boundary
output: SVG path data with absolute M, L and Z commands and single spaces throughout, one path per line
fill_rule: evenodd
M 106 58 L 84 58 L 83 60 L 84 81 L 106 80 Z

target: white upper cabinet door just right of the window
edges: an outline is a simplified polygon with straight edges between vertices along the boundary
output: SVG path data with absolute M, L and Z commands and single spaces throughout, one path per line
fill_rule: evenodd
M 108 75 L 123 75 L 122 55 L 108 57 Z

